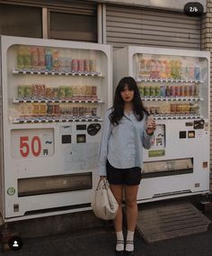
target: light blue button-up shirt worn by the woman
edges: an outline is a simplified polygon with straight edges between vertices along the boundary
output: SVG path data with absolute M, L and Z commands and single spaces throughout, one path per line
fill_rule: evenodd
M 102 141 L 99 151 L 99 173 L 106 176 L 106 161 L 118 169 L 143 166 L 143 147 L 148 150 L 154 135 L 146 133 L 146 114 L 137 121 L 135 114 L 124 114 L 119 125 L 110 123 L 111 109 L 104 117 Z

